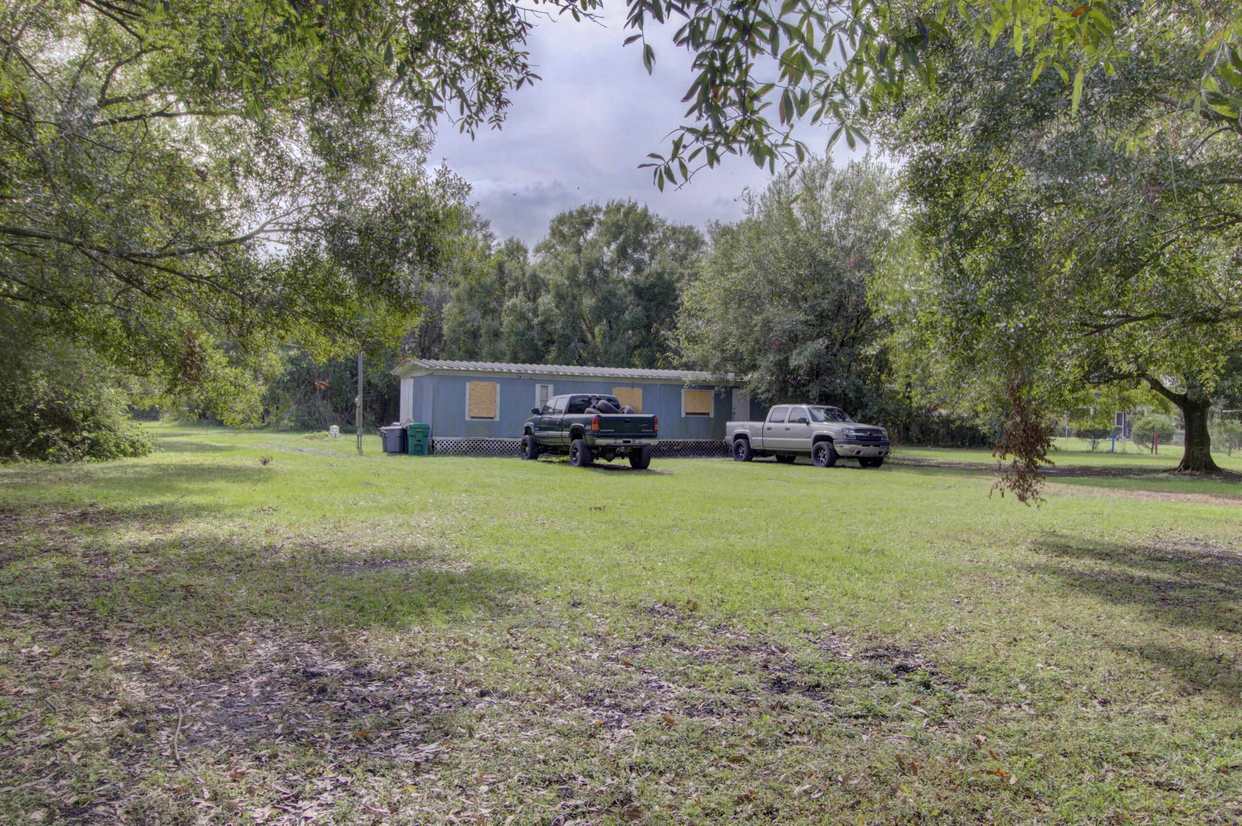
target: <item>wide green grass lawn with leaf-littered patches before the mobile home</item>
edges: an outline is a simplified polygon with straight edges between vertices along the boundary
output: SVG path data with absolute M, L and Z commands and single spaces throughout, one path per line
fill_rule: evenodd
M 153 430 L 0 468 L 0 821 L 1242 821 L 1236 482 Z

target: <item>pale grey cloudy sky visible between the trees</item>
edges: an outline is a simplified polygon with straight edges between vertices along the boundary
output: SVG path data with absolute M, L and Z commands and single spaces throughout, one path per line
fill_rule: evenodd
M 589 201 L 633 199 L 667 219 L 702 227 L 713 219 L 741 215 L 738 195 L 763 186 L 768 173 L 753 161 L 727 158 L 703 170 L 681 190 L 661 193 L 650 169 L 638 169 L 648 152 L 666 154 L 668 133 L 681 123 L 681 102 L 693 82 L 689 56 L 671 43 L 672 29 L 648 27 L 656 47 L 655 73 L 642 66 L 640 43 L 622 46 L 625 4 L 609 4 L 602 25 L 569 17 L 544 21 L 528 48 L 544 79 L 512 96 L 502 130 L 474 140 L 441 124 L 431 160 L 446 160 L 473 185 L 479 211 L 498 237 L 542 238 L 553 215 Z M 775 78 L 774 78 L 775 79 Z M 801 127 L 802 139 L 822 150 L 830 128 Z M 833 149 L 848 158 L 845 142 Z

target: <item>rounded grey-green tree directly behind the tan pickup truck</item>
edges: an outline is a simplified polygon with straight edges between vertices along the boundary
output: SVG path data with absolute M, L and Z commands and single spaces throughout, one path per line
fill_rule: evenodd
M 689 364 L 745 376 L 764 401 L 805 399 L 876 412 L 883 325 L 868 278 L 898 225 L 895 179 L 873 160 L 812 159 L 744 197 L 717 224 L 686 292 L 678 339 Z

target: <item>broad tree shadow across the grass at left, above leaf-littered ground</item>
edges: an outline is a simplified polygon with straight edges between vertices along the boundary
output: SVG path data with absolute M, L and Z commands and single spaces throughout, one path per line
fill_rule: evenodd
M 57 610 L 174 635 L 262 621 L 332 630 L 492 617 L 538 588 L 424 542 L 201 534 L 179 524 L 205 514 L 169 504 L 0 512 L 0 576 L 9 599 L 36 614 L 55 600 Z M 71 537 L 70 525 L 98 530 Z

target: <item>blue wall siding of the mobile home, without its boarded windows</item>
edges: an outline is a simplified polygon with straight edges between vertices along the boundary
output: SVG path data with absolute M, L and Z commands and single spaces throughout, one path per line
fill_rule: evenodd
M 494 381 L 499 417 L 496 421 L 466 417 L 466 388 L 471 381 Z M 469 373 L 433 373 L 414 379 L 414 419 L 431 424 L 432 438 L 517 438 L 535 404 L 535 385 L 550 384 L 553 395 L 566 393 L 611 394 L 614 388 L 641 388 L 642 411 L 660 416 L 662 440 L 720 440 L 732 405 L 729 388 L 713 396 L 714 416 L 682 416 L 682 390 L 713 390 L 710 385 L 658 381 L 578 379 L 573 376 L 497 376 Z

